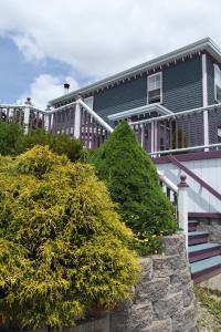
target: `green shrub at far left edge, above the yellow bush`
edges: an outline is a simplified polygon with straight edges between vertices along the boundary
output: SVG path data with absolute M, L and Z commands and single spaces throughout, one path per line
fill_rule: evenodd
M 17 142 L 21 136 L 22 129 L 17 123 L 0 122 L 0 154 L 15 155 Z

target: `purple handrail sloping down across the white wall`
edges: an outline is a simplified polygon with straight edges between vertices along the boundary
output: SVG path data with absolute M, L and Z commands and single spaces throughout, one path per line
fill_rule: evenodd
M 188 174 L 191 178 L 193 178 L 200 186 L 206 188 L 215 198 L 221 200 L 221 194 L 220 193 L 218 193 L 215 189 L 213 189 L 210 185 L 208 185 L 203 179 L 201 179 L 198 175 L 196 175 L 192 170 L 190 170 L 183 164 L 181 164 L 175 156 L 169 155 L 169 156 L 167 156 L 167 159 L 169 159 L 173 165 L 176 165 L 177 167 L 182 169 L 186 174 Z

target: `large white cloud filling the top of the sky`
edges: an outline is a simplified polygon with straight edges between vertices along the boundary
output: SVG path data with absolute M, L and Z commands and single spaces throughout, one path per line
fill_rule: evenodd
M 28 60 L 97 79 L 207 35 L 221 44 L 220 12 L 220 0 L 1 0 L 0 33 Z

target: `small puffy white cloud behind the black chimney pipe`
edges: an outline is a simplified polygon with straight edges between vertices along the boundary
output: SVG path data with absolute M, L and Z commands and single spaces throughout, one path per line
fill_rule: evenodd
M 45 110 L 49 100 L 55 98 L 64 93 L 63 83 L 69 82 L 73 90 L 78 87 L 78 84 L 72 77 L 56 77 L 48 74 L 38 76 L 30 89 L 17 101 L 21 104 L 25 98 L 31 96 L 32 104 L 41 110 Z

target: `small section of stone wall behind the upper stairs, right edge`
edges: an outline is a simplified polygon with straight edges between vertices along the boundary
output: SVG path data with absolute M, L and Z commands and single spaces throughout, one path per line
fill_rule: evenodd
M 211 242 L 221 243 L 221 220 L 211 218 L 198 218 L 197 230 L 207 230 Z

